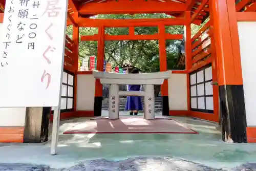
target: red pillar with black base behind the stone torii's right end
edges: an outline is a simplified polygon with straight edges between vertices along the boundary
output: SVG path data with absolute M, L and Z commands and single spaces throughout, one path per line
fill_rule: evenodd
M 165 46 L 165 26 L 158 26 L 159 33 L 159 65 L 160 72 L 167 71 L 167 58 L 166 58 L 166 46 Z M 164 80 L 161 85 L 161 96 L 162 96 L 162 115 L 169 115 L 169 98 L 168 98 L 168 81 Z

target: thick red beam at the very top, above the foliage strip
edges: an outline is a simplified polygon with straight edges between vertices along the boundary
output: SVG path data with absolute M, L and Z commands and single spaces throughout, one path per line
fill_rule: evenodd
M 186 10 L 186 5 L 176 2 L 128 1 L 119 0 L 105 3 L 88 3 L 81 6 L 80 14 L 140 14 L 172 13 Z

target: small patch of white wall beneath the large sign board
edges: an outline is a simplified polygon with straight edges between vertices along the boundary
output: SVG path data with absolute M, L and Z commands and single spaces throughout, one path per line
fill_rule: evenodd
M 0 108 L 0 126 L 25 126 L 26 108 Z

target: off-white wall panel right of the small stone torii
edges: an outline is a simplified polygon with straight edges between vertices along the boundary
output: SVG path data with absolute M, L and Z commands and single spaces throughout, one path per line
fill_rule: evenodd
M 187 110 L 187 76 L 170 74 L 168 79 L 169 110 Z

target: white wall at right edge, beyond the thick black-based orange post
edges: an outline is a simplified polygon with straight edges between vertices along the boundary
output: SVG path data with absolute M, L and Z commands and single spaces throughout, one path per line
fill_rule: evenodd
M 247 126 L 256 126 L 256 22 L 238 22 Z

